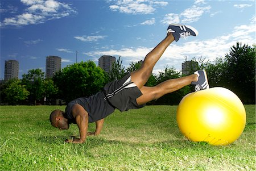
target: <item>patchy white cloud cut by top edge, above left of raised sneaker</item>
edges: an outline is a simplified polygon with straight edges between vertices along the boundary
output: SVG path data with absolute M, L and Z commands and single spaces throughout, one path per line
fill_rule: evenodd
M 114 2 L 109 6 L 112 11 L 119 11 L 127 14 L 152 14 L 156 7 L 166 6 L 166 1 L 153 1 L 153 0 L 117 0 L 109 1 Z

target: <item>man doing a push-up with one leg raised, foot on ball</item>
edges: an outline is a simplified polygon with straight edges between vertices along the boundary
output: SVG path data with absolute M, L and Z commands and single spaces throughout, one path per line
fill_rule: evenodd
M 189 84 L 196 85 L 196 90 L 208 89 L 207 74 L 199 70 L 190 76 L 167 80 L 154 87 L 146 87 L 148 78 L 156 62 L 163 55 L 172 41 L 180 37 L 197 36 L 198 32 L 191 26 L 170 24 L 167 36 L 144 59 L 138 70 L 127 74 L 121 80 L 106 84 L 104 90 L 88 98 L 78 98 L 68 103 L 65 112 L 52 111 L 50 115 L 53 127 L 67 130 L 70 123 L 79 127 L 80 139 L 66 140 L 67 143 L 84 143 L 86 135 L 99 135 L 103 127 L 104 118 L 112 114 L 115 109 L 127 111 L 139 109 L 147 102 L 162 97 L 164 94 L 179 90 Z M 88 123 L 96 122 L 95 132 L 87 132 Z

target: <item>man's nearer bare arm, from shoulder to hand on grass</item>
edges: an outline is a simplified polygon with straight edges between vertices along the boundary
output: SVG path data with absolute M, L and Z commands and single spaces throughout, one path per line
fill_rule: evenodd
M 79 104 L 72 108 L 72 114 L 76 119 L 76 124 L 79 127 L 80 139 L 66 140 L 67 143 L 84 143 L 88 130 L 88 112 Z

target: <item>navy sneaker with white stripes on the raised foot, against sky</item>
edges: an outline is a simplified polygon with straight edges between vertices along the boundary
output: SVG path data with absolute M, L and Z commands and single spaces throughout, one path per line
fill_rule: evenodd
M 187 36 L 198 35 L 198 31 L 196 30 L 196 28 L 180 24 L 170 24 L 167 28 L 167 34 L 169 34 L 170 32 L 174 36 L 175 41 L 178 41 L 180 37 L 184 37 L 184 39 L 187 39 Z

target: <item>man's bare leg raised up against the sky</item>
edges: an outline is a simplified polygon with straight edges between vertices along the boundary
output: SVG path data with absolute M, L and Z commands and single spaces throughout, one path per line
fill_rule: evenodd
M 160 59 L 166 48 L 174 40 L 174 36 L 172 36 L 172 34 L 168 34 L 163 41 L 161 41 L 150 53 L 147 54 L 141 68 L 131 73 L 131 80 L 138 86 L 139 89 L 146 84 L 148 78 L 151 76 L 156 62 Z

